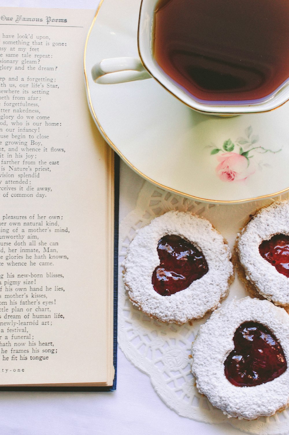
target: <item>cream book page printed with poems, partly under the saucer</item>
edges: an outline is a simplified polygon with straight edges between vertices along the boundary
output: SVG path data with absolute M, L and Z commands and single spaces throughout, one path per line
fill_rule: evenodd
M 1 384 L 105 382 L 111 160 L 83 77 L 94 12 L 1 14 Z

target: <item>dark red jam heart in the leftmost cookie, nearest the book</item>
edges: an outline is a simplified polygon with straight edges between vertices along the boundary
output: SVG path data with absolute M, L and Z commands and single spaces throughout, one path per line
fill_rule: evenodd
M 188 288 L 193 281 L 208 272 L 204 255 L 191 242 L 175 235 L 166 235 L 158 241 L 160 264 L 155 268 L 151 282 L 158 294 L 170 296 Z

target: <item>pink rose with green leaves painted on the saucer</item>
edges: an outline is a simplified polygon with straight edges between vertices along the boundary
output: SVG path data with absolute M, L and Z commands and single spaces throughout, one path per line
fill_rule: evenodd
M 245 181 L 250 175 L 254 174 L 256 168 L 262 171 L 263 167 L 270 167 L 270 164 L 262 161 L 252 162 L 252 158 L 256 154 L 272 153 L 276 154 L 281 151 L 272 151 L 260 145 L 255 146 L 259 141 L 256 134 L 252 134 L 252 127 L 245 129 L 246 137 L 238 137 L 235 143 L 231 139 L 227 139 L 222 148 L 216 147 L 214 144 L 208 145 L 205 148 L 212 148 L 211 155 L 218 154 L 218 165 L 216 166 L 216 174 L 222 181 Z M 220 154 L 219 154 L 220 153 Z

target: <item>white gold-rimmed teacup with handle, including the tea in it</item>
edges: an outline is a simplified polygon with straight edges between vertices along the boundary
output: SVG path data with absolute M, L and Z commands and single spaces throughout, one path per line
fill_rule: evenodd
M 289 99 L 284 0 L 142 0 L 140 58 L 94 65 L 97 83 L 154 77 L 203 113 L 272 110 Z

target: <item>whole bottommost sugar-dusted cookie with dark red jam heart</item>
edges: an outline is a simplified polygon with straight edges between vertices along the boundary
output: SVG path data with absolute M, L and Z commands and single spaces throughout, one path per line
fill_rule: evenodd
M 252 420 L 289 404 L 289 315 L 249 297 L 216 310 L 192 345 L 198 391 L 229 417 Z

